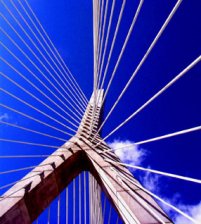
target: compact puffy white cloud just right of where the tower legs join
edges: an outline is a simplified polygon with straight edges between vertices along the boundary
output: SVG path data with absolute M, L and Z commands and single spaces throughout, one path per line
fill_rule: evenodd
M 128 146 L 132 144 L 132 146 Z M 139 148 L 134 142 L 126 140 L 114 140 L 108 145 L 114 150 L 115 154 L 121 159 L 122 162 L 132 164 L 132 165 L 140 165 L 143 159 L 146 156 L 146 151 L 142 148 Z

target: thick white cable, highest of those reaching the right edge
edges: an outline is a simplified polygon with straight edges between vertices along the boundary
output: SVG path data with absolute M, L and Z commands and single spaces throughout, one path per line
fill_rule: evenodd
M 180 72 L 174 79 L 172 79 L 167 85 L 165 85 L 161 90 L 159 90 L 153 97 L 151 97 L 145 104 L 143 104 L 138 110 L 131 114 L 127 119 L 125 119 L 120 125 L 118 125 L 113 131 L 111 131 L 103 140 L 107 139 L 109 136 L 114 134 L 119 128 L 125 125 L 129 120 L 136 116 L 141 110 L 148 106 L 152 101 L 154 101 L 158 96 L 160 96 L 165 90 L 167 90 L 172 84 L 179 80 L 183 75 L 185 75 L 190 69 L 192 69 L 198 62 L 201 61 L 201 56 L 196 58 L 189 66 L 187 66 L 182 72 Z

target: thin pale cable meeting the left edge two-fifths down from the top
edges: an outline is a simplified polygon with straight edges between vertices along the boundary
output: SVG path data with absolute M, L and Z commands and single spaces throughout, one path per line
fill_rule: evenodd
M 44 115 L 45 117 L 47 117 L 47 118 L 49 118 L 49 119 L 55 121 L 56 123 L 62 125 L 62 126 L 65 127 L 66 129 L 71 130 L 71 131 L 73 131 L 73 132 L 76 132 L 76 130 L 74 130 L 74 129 L 72 129 L 71 127 L 69 127 L 69 126 L 63 124 L 62 122 L 56 120 L 55 118 L 53 118 L 52 116 L 46 114 L 45 112 L 41 111 L 40 109 L 37 109 L 37 108 L 34 107 L 33 105 L 27 103 L 26 101 L 22 100 L 21 98 L 15 96 L 15 95 L 13 95 L 13 94 L 10 93 L 9 91 L 7 91 L 7 90 L 5 90 L 5 89 L 2 89 L 2 88 L 0 88 L 0 91 L 4 92 L 6 95 L 8 95 L 8 96 L 10 96 L 10 97 L 12 97 L 12 98 L 18 100 L 19 102 L 23 103 L 24 105 L 26 105 L 26 106 L 32 108 L 33 110 L 35 110 L 35 111 L 37 111 L 38 113 Z

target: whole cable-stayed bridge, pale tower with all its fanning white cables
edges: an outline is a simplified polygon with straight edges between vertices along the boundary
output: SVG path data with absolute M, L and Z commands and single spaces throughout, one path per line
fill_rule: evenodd
M 114 153 L 115 150 L 129 149 L 132 146 L 200 133 L 199 123 L 115 149 L 106 141 L 126 127 L 133 118 L 160 98 L 183 76 L 200 66 L 200 54 L 186 66 L 181 66 L 175 76 L 126 118 L 119 121 L 110 132 L 103 137 L 101 134 L 169 23 L 182 7 L 181 0 L 174 2 L 150 45 L 134 69 L 132 68 L 129 79 L 123 83 L 123 88 L 104 116 L 101 115 L 102 110 L 146 1 L 140 0 L 138 4 L 135 3 L 135 10 L 128 30 L 125 31 L 126 35 L 123 35 L 124 39 L 111 72 L 109 66 L 118 35 L 121 36 L 120 27 L 126 16 L 127 4 L 129 3 L 126 1 L 119 3 L 115 0 L 93 1 L 93 88 L 90 93 L 92 96 L 88 100 L 30 3 L 27 0 L 1 0 L 3 53 L 0 58 L 0 74 L 6 81 L 0 87 L 0 106 L 6 112 L 2 115 L 0 123 L 2 128 L 10 127 L 13 130 L 13 138 L 2 134 L 1 142 L 22 145 L 21 147 L 26 147 L 27 151 L 24 149 L 20 153 L 14 153 L 15 150 L 12 150 L 5 153 L 2 150 L 0 155 L 0 159 L 7 164 L 7 169 L 0 171 L 1 176 L 10 175 L 17 178 L 0 186 L 0 223 L 173 223 L 158 202 L 185 217 L 189 222 L 199 223 L 184 210 L 143 187 L 127 168 L 194 184 L 200 184 L 200 179 L 127 163 L 121 161 Z M 115 25 L 113 20 L 116 22 Z M 113 35 L 110 35 L 112 29 Z M 12 102 L 15 103 L 12 105 Z M 130 107 L 130 103 L 127 107 Z M 9 119 L 10 113 L 16 114 L 19 122 L 12 122 L 12 119 Z M 31 121 L 32 125 L 28 126 L 26 122 L 22 125 L 21 118 L 27 122 Z M 23 138 L 25 135 L 21 134 L 20 138 L 17 138 L 17 130 L 22 131 L 20 133 L 28 132 L 29 136 Z M 37 135 L 38 138 L 40 136 L 41 141 L 29 141 L 29 137 L 33 135 Z M 50 144 L 48 139 L 63 143 Z M 48 154 L 44 154 L 44 151 L 36 154 L 31 146 L 52 151 Z M 40 162 L 29 166 L 20 162 L 30 159 L 40 159 Z M 18 161 L 20 168 L 11 168 L 12 163 L 15 163 L 13 161 Z M 23 176 L 17 175 L 20 172 Z

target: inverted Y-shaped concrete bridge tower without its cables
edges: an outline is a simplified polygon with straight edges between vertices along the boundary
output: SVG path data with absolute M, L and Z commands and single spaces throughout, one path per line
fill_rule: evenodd
M 94 122 L 92 95 L 76 135 L 1 197 L 1 224 L 33 222 L 84 170 L 94 176 L 124 223 L 172 223 L 129 170 L 115 163 L 119 162 L 119 158 L 110 150 L 102 153 L 109 147 L 99 135 L 92 143 L 99 124 L 103 91 L 99 90 L 97 95 L 99 102 Z M 93 130 L 90 129 L 92 123 Z M 98 146 L 95 146 L 96 143 L 99 143 Z

